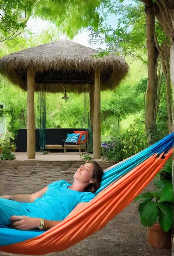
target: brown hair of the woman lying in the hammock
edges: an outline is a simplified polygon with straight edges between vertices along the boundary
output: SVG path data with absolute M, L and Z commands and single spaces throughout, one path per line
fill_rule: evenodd
M 92 163 L 94 165 L 93 179 L 95 179 L 96 181 L 95 181 L 95 183 L 89 184 L 85 188 L 84 191 L 95 193 L 98 190 L 98 188 L 100 187 L 101 179 L 102 179 L 102 175 L 103 175 L 103 170 L 102 170 L 101 166 L 99 165 L 99 163 L 97 163 L 96 161 L 88 161 L 88 163 Z

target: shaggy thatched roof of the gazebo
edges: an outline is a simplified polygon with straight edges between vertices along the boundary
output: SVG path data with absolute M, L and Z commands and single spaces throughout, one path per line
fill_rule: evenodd
M 101 72 L 101 90 L 113 90 L 128 73 L 127 63 L 109 54 L 97 57 L 98 51 L 70 40 L 59 40 L 41 46 L 11 53 L 0 58 L 0 72 L 14 84 L 27 90 L 27 68 L 35 70 L 35 90 L 39 83 L 47 84 L 47 91 L 82 92 L 79 83 L 92 83 L 95 69 Z M 76 85 L 75 85 L 76 84 Z

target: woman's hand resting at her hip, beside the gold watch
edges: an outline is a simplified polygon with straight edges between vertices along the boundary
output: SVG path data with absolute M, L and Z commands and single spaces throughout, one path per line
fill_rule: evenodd
M 40 225 L 39 218 L 32 218 L 27 216 L 11 216 L 10 221 L 12 222 L 11 227 L 23 231 L 39 228 Z

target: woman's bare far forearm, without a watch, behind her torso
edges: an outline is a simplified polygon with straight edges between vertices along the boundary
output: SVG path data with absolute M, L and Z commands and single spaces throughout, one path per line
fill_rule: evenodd
M 32 195 L 3 195 L 0 197 L 9 199 L 12 201 L 20 202 L 20 203 L 32 203 L 32 202 L 35 202 L 36 198 L 41 198 L 46 193 L 47 190 L 48 190 L 48 187 L 45 187 Z

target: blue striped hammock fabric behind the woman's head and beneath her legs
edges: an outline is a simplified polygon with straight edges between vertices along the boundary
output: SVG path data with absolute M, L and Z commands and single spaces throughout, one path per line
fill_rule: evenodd
M 96 195 L 108 187 L 113 182 L 117 181 L 130 172 L 134 167 L 138 166 L 140 163 L 144 162 L 149 157 L 155 154 L 162 154 L 168 152 L 174 145 L 174 134 L 171 133 L 159 142 L 153 144 L 152 146 L 144 149 L 138 154 L 131 156 L 130 158 L 117 163 L 114 166 L 109 167 L 105 170 L 102 177 L 102 182 L 100 188 L 95 193 Z M 15 230 L 10 227 L 0 226 L 0 246 L 12 245 L 22 241 L 26 241 L 30 238 L 37 237 L 43 234 L 45 231 L 31 230 L 31 231 L 21 231 Z M 9 239 L 10 238 L 10 239 Z

